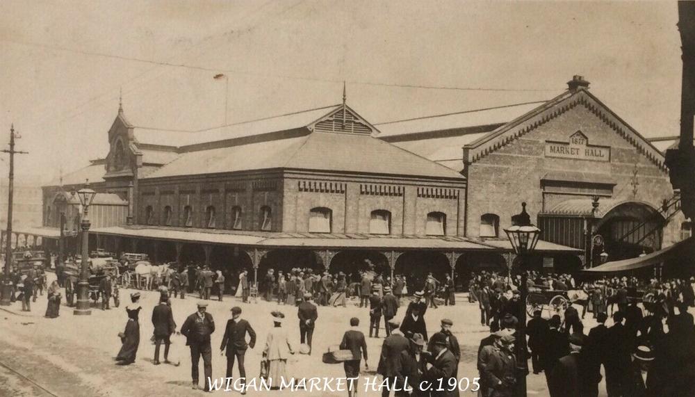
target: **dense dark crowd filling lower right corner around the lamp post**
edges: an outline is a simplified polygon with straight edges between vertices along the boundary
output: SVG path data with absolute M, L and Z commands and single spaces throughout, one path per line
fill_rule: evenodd
M 518 395 L 516 380 L 528 371 L 514 364 L 520 352 L 518 362 L 530 358 L 532 371 L 545 375 L 551 397 L 598 396 L 601 366 L 609 397 L 692 395 L 695 324 L 688 308 L 695 304 L 695 278 L 612 277 L 575 284 L 570 275 L 530 272 L 530 290 L 575 292 L 584 309 L 580 314 L 569 305 L 550 318 L 535 310 L 525 329 L 528 348 L 521 349 L 514 346 L 521 277 L 481 273 L 473 279 L 470 299 L 479 302 L 482 323 L 491 329 L 478 352 L 482 396 Z M 582 321 L 587 309 L 598 323 L 591 330 Z

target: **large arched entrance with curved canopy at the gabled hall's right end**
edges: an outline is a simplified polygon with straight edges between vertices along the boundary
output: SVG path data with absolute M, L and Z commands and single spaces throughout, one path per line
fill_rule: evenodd
M 647 202 L 628 201 L 601 208 L 596 232 L 603 237 L 608 260 L 638 257 L 661 249 L 664 217 Z

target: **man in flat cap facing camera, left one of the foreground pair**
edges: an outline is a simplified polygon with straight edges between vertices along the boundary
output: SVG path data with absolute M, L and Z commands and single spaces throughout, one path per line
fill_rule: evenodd
M 203 357 L 205 380 L 213 375 L 212 348 L 210 335 L 215 332 L 213 316 L 206 313 L 208 304 L 198 302 L 198 311 L 186 318 L 181 326 L 181 334 L 186 337 L 186 346 L 190 348 L 190 373 L 193 380 L 193 389 L 198 389 L 198 363 Z M 204 382 L 204 391 L 210 391 L 209 382 Z

